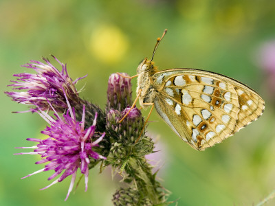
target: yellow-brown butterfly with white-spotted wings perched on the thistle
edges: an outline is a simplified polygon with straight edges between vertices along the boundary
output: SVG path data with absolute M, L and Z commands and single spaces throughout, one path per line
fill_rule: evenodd
M 157 38 L 153 56 L 162 38 Z M 158 71 L 153 56 L 137 67 L 137 99 L 142 107 L 152 106 L 151 111 L 155 107 L 192 148 L 212 147 L 263 114 L 265 102 L 245 84 L 200 69 Z

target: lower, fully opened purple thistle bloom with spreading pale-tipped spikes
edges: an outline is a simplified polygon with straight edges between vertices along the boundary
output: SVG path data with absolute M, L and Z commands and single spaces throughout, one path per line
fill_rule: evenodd
M 66 95 L 65 98 L 67 100 Z M 52 105 L 50 104 L 50 106 Z M 28 138 L 28 141 L 34 141 L 37 145 L 33 147 L 21 148 L 34 148 L 34 152 L 21 152 L 14 154 L 41 155 L 41 160 L 37 161 L 36 164 L 47 163 L 43 169 L 32 174 L 28 174 L 25 177 L 32 176 L 33 174 L 37 174 L 39 172 L 54 170 L 54 174 L 48 178 L 48 180 L 51 180 L 64 171 L 58 179 L 47 187 L 61 182 L 67 176 L 72 175 L 72 181 L 69 185 L 69 190 L 65 201 L 69 197 L 70 192 L 72 192 L 78 168 L 80 168 L 80 172 L 85 175 L 86 192 L 88 187 L 89 163 L 91 159 L 106 159 L 93 150 L 93 147 L 98 146 L 98 143 L 102 141 L 105 135 L 105 133 L 103 133 L 100 137 L 99 135 L 95 135 L 97 113 L 92 126 L 85 129 L 85 105 L 83 105 L 83 117 L 81 122 L 76 120 L 74 108 L 70 106 L 68 100 L 67 107 L 69 109 L 67 113 L 63 115 L 63 119 L 58 116 L 53 107 L 52 110 L 55 113 L 54 115 L 56 116 L 56 119 L 39 108 L 40 111 L 36 112 L 50 124 L 50 126 L 47 126 L 47 128 L 45 128 L 45 130 L 41 133 L 49 135 L 50 137 L 47 139 Z M 92 141 L 92 139 L 96 137 L 98 137 L 98 139 Z M 44 187 L 41 190 L 44 190 L 47 187 Z

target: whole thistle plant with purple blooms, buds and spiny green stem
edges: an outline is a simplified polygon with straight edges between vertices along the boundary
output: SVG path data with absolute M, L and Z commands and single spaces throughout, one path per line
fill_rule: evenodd
M 129 111 L 132 104 L 131 80 L 122 78 L 127 74 L 110 76 L 107 107 L 101 109 L 79 97 L 75 85 L 82 78 L 72 81 L 66 65 L 58 61 L 62 67 L 62 71 L 58 71 L 49 60 L 43 60 L 45 64 L 31 61 L 23 65 L 36 74 L 14 75 L 17 81 L 12 81 L 14 84 L 9 86 L 19 92 L 5 92 L 13 101 L 30 106 L 28 111 L 39 114 L 49 124 L 41 131 L 48 136 L 46 139 L 28 138 L 36 146 L 20 147 L 33 151 L 16 154 L 40 155 L 41 160 L 36 164 L 46 163 L 43 169 L 25 177 L 54 170 L 48 180 L 56 180 L 41 189 L 44 190 L 72 176 L 67 200 L 77 171 L 85 176 L 87 190 L 89 170 L 101 162 L 103 166 L 111 165 L 128 184 L 113 194 L 113 205 L 168 205 L 167 194 L 144 157 L 153 152 L 154 143 L 142 130 L 142 113 L 136 107 Z M 53 115 L 47 111 L 53 111 Z M 120 122 L 128 112 L 129 115 Z

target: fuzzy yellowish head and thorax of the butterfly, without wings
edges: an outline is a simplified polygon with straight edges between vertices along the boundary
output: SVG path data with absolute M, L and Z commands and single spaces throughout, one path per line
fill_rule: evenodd
M 137 67 L 137 93 L 140 93 L 140 106 L 144 108 L 144 103 L 153 103 L 155 99 L 155 89 L 153 89 L 153 74 L 157 72 L 157 67 L 151 60 L 144 58 Z

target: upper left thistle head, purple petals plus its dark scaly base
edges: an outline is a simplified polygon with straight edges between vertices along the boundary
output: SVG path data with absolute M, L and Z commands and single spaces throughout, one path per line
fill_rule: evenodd
M 34 70 L 36 73 L 18 73 L 14 74 L 17 81 L 12 80 L 14 84 L 8 85 L 13 87 L 15 92 L 5 92 L 13 101 L 20 104 L 30 106 L 28 111 L 49 111 L 54 108 L 58 113 L 64 113 L 68 109 L 66 98 L 69 104 L 76 110 L 76 119 L 80 121 L 82 117 L 83 104 L 86 106 L 86 122 L 93 122 L 95 113 L 97 117 L 97 130 L 104 131 L 104 112 L 95 104 L 79 97 L 79 92 L 76 89 L 78 80 L 82 80 L 86 76 L 72 80 L 67 72 L 67 65 L 60 62 L 56 57 L 54 60 L 61 65 L 62 70 L 59 71 L 49 59 L 42 58 L 45 63 L 36 60 L 30 60 L 30 63 L 22 65 L 28 69 Z M 20 113 L 20 112 L 17 112 Z

